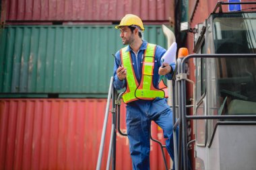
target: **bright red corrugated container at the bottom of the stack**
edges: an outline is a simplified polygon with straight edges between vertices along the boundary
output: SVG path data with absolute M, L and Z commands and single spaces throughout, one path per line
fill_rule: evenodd
M 0 169 L 96 169 L 105 108 L 106 99 L 1 99 Z M 101 169 L 106 169 L 110 126 L 111 114 Z M 125 132 L 124 105 L 121 129 Z M 164 144 L 156 124 L 152 136 Z M 151 142 L 150 166 L 164 169 L 155 142 Z M 120 134 L 116 168 L 132 169 L 128 139 Z

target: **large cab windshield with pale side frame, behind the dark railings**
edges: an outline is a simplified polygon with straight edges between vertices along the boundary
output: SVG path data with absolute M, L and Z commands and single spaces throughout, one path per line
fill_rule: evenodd
M 255 54 L 256 13 L 228 13 L 221 16 L 215 15 L 212 20 L 213 27 L 208 30 L 214 40 L 213 52 Z M 256 114 L 256 58 L 225 58 L 223 56 L 207 58 L 206 62 L 207 114 Z M 222 120 L 207 120 L 210 136 L 218 121 Z

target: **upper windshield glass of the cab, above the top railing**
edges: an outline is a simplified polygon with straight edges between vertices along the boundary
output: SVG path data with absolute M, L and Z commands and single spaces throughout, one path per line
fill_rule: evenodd
M 219 15 L 213 19 L 215 53 L 256 53 L 256 13 Z

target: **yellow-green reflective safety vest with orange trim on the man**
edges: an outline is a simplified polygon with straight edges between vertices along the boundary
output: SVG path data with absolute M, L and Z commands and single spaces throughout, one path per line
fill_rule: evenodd
M 148 43 L 147 49 L 144 52 L 142 77 L 140 83 L 137 82 L 135 77 L 133 65 L 131 62 L 131 53 L 127 51 L 127 48 L 128 46 L 120 50 L 121 62 L 127 69 L 127 85 L 125 93 L 123 93 L 123 101 L 125 103 L 129 103 L 137 99 L 152 100 L 156 97 L 166 97 L 164 89 L 157 89 L 153 85 L 156 45 Z

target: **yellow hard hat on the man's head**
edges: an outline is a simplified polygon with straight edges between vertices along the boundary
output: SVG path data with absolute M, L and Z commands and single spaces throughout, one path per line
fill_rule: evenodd
M 137 15 L 133 14 L 126 14 L 122 18 L 119 26 L 115 26 L 115 28 L 119 29 L 121 26 L 139 26 L 141 31 L 145 30 L 141 19 Z

